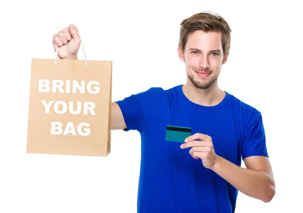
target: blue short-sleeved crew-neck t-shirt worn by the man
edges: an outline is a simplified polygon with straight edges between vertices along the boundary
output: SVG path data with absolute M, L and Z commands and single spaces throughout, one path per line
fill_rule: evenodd
M 180 142 L 166 141 L 167 125 L 212 137 L 216 154 L 240 166 L 241 157 L 268 156 L 259 111 L 226 92 L 213 107 L 191 102 L 182 85 L 150 88 L 116 101 L 127 129 L 141 135 L 137 212 L 235 211 L 237 190 L 194 159 Z

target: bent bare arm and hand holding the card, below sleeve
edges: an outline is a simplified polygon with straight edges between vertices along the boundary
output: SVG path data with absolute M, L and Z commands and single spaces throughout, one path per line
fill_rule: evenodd
M 275 195 L 275 181 L 267 156 L 248 156 L 244 158 L 246 168 L 239 167 L 217 155 L 212 138 L 196 133 L 189 136 L 181 148 L 190 148 L 189 154 L 200 158 L 205 168 L 213 170 L 243 194 L 269 202 Z

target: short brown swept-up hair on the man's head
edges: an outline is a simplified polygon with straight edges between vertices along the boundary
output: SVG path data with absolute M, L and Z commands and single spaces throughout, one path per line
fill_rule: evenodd
M 230 49 L 230 34 L 229 25 L 220 15 L 210 12 L 201 12 L 190 16 L 181 22 L 179 46 L 182 51 L 185 49 L 188 34 L 195 30 L 203 30 L 205 32 L 221 32 L 222 33 L 222 48 L 224 56 Z

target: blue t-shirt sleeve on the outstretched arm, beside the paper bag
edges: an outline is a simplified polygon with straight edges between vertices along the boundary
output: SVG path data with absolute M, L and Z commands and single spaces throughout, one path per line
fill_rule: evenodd
M 162 88 L 152 87 L 144 92 L 132 94 L 122 100 L 115 101 L 122 111 L 127 126 L 124 131 L 142 131 L 149 112 L 157 106 L 163 91 Z

